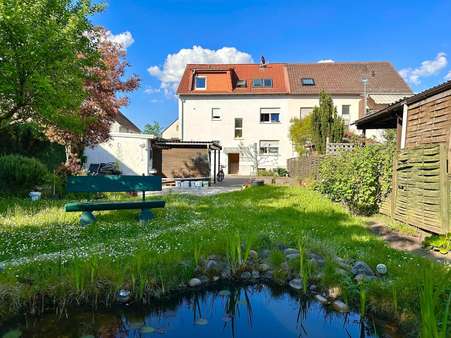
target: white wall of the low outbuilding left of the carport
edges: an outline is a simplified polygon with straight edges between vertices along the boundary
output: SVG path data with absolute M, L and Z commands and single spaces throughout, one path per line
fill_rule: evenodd
M 111 139 L 85 149 L 87 167 L 91 163 L 117 162 L 124 175 L 148 174 L 152 168 L 150 139 L 145 134 L 111 133 Z

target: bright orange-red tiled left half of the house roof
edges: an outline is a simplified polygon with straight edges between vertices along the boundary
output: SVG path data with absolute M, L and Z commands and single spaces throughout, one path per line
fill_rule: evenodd
M 224 72 L 230 86 L 224 85 L 224 90 L 193 90 L 194 74 Z M 254 88 L 253 79 L 271 78 L 272 88 Z M 246 88 L 236 87 L 238 80 L 246 80 Z M 208 94 L 288 94 L 289 83 L 286 64 L 272 63 L 261 67 L 259 64 L 188 64 L 177 89 L 179 95 Z

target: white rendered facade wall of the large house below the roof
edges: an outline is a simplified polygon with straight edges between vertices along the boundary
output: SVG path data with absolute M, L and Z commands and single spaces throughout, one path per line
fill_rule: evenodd
M 350 105 L 351 123 L 358 119 L 359 96 L 333 97 L 338 114 L 341 106 Z M 261 167 L 286 167 L 286 160 L 296 156 L 289 138 L 290 120 L 300 116 L 301 107 L 319 105 L 319 97 L 293 95 L 185 96 L 179 99 L 180 135 L 184 141 L 220 141 L 223 148 L 238 148 L 261 140 L 279 140 L 279 156 L 266 155 Z M 212 121 L 212 108 L 220 108 L 222 119 Z M 280 108 L 280 123 L 261 123 L 261 108 Z M 235 118 L 243 119 L 243 137 L 234 137 Z M 354 126 L 351 126 L 355 130 Z M 265 162 L 265 161 L 262 161 Z M 227 155 L 221 154 L 226 166 Z M 251 163 L 240 158 L 240 174 L 249 174 Z

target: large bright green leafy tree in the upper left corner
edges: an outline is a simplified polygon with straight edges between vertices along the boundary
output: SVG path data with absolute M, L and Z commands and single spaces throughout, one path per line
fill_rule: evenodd
M 86 69 L 99 61 L 91 0 L 0 1 L 0 127 L 13 121 L 82 132 L 71 112 L 86 96 Z

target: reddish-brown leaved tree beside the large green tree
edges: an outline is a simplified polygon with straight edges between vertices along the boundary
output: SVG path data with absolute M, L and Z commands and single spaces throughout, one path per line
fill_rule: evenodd
M 125 50 L 109 41 L 104 29 L 99 28 L 95 33 L 99 36 L 97 48 L 102 63 L 86 70 L 90 74 L 84 84 L 87 97 L 79 109 L 72 111 L 85 126 L 84 132 L 76 133 L 71 129 L 58 128 L 57 125 L 46 126 L 49 139 L 66 147 L 66 165 L 73 168 L 76 168 L 74 162 L 78 161 L 84 147 L 110 138 L 111 124 L 120 108 L 128 104 L 128 98 L 123 95 L 119 97 L 118 94 L 135 90 L 140 82 L 136 75 L 122 79 L 129 65 L 125 60 Z

